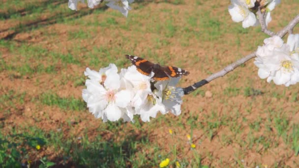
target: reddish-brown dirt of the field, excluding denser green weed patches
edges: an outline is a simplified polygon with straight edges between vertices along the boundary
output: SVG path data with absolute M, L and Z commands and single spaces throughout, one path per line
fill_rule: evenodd
M 0 20 L 1 43 L 9 44 L 0 46 L 1 66 L 3 65 L 0 68 L 0 94 L 9 95 L 13 90 L 17 97 L 1 99 L 1 133 L 9 135 L 12 134 L 12 129 L 26 131 L 35 127 L 44 132 L 60 130 L 64 140 L 87 136 L 92 141 L 97 135 L 101 135 L 103 140 L 118 141 L 127 135 L 134 135 L 135 140 L 139 141 L 145 136 L 153 146 L 158 146 L 168 154 L 169 158 L 185 160 L 189 167 L 195 165 L 192 163 L 195 155 L 201 159 L 202 165 L 215 168 L 299 167 L 299 156 L 292 146 L 292 134 L 299 128 L 299 87 L 277 86 L 261 80 L 257 76 L 258 69 L 253 64 L 254 60 L 203 86 L 200 91 L 185 95 L 180 116 L 159 114 L 149 123 L 137 121 L 140 122 L 140 127 L 121 122 L 119 132 L 109 130 L 107 123 L 94 118 L 87 109 L 63 110 L 55 105 L 41 103 L 42 95 L 49 90 L 62 98 L 82 100 L 82 89 L 85 88 L 83 72 L 86 67 L 98 70 L 109 61 L 118 60 L 123 61 L 122 66 L 127 67 L 130 62 L 125 60 L 125 54 L 147 57 L 151 53 L 147 58 L 153 62 L 163 62 L 190 71 L 190 75 L 183 77 L 180 82 L 181 86 L 188 86 L 250 54 L 267 37 L 258 31 L 259 28 L 251 28 L 245 33 L 241 28 L 238 29 L 240 24 L 233 23 L 226 11 L 229 1 L 201 1 L 199 5 L 195 5 L 195 1 L 183 0 L 183 3 L 179 4 L 176 4 L 176 0 L 136 2 L 132 4 L 133 9 L 127 19 L 115 14 L 117 12 L 113 13 L 112 9 L 95 12 L 102 10 L 104 5 L 88 9 L 86 4 L 80 4 L 79 11 L 70 15 L 62 14 L 64 18 L 71 18 L 64 22 L 57 21 L 57 11 L 49 12 L 48 9 L 44 9 L 45 12 L 34 20 L 23 20 L 22 16 L 28 16 L 28 11 L 22 10 L 22 7 L 17 8 L 21 15 L 17 19 Z M 53 1 L 52 4 L 68 10 L 66 3 Z M 299 2 L 296 0 L 282 1 L 273 12 L 273 21 L 269 28 L 273 31 L 283 28 L 298 14 L 298 7 Z M 200 10 L 209 12 L 201 14 Z M 89 11 L 91 12 L 88 13 Z M 0 12 L 8 11 L 1 9 Z M 201 22 L 201 17 L 205 15 L 220 21 L 218 31 L 221 33 L 215 39 L 211 37 L 209 30 L 200 27 L 212 22 Z M 186 26 L 185 20 L 192 20 L 187 16 L 193 16 L 197 25 Z M 107 18 L 114 18 L 117 24 L 93 25 L 94 22 L 107 21 Z M 167 25 L 168 20 L 175 25 L 174 35 L 165 35 L 169 32 L 161 23 Z M 162 25 L 161 28 L 156 28 L 155 24 L 158 23 Z M 81 30 L 89 34 L 83 38 L 72 35 L 72 32 L 78 33 Z M 189 30 L 201 35 L 196 37 Z M 298 33 L 298 30 L 297 27 L 294 32 Z M 210 32 L 213 33 L 212 30 Z M 109 53 L 109 56 L 102 50 L 100 53 L 95 52 L 95 48 L 101 47 L 107 50 L 104 52 Z M 30 51 L 27 51 L 27 48 L 30 48 Z M 36 56 L 30 55 L 35 52 L 31 51 L 32 48 L 43 49 L 45 52 Z M 60 58 L 54 59 L 51 52 L 71 54 L 80 63 L 65 63 Z M 101 62 L 98 65 L 90 65 L 93 60 L 89 56 L 94 54 Z M 29 64 L 30 67 L 53 65 L 56 73 L 30 73 L 26 69 L 18 68 L 24 64 Z M 82 84 L 76 84 L 78 79 L 83 79 Z M 246 96 L 245 88 L 261 90 L 262 93 Z M 24 102 L 16 101 L 24 92 Z M 284 120 L 287 125 L 283 127 L 283 133 L 280 133 L 280 121 Z M 103 127 L 105 129 L 102 129 Z M 173 134 L 169 133 L 170 129 Z M 194 149 L 190 148 L 190 140 L 186 137 L 188 134 L 192 136 L 192 143 L 196 144 Z M 80 140 L 77 142 L 80 143 Z M 152 159 L 150 154 L 155 153 L 153 146 L 140 146 L 140 152 L 149 160 Z M 174 146 L 177 150 L 176 156 L 173 152 Z M 67 163 L 64 165 L 66 167 L 77 167 L 72 158 L 63 161 L 62 151 L 47 146 L 38 152 L 30 152 L 29 158 L 23 161 L 36 161 L 37 165 L 39 158 L 47 156 L 48 160 L 55 162 L 58 167 L 62 167 L 62 162 Z M 137 154 L 136 158 L 138 160 Z M 131 164 L 127 166 L 132 167 Z

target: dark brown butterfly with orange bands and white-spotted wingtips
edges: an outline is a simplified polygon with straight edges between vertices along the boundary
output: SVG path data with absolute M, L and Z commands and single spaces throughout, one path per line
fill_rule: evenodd
M 149 62 L 147 59 L 138 56 L 125 55 L 130 59 L 132 64 L 136 66 L 137 71 L 144 75 L 154 73 L 153 80 L 164 81 L 169 80 L 169 77 L 178 78 L 181 75 L 188 75 L 189 72 L 174 66 L 162 66 L 157 63 Z

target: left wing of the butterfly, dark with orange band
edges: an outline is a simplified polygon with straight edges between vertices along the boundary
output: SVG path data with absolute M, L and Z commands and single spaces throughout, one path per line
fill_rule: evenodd
M 149 62 L 147 59 L 131 55 L 125 55 L 125 57 L 131 60 L 132 64 L 137 67 L 137 71 L 141 74 L 149 75 L 152 71 L 153 63 Z

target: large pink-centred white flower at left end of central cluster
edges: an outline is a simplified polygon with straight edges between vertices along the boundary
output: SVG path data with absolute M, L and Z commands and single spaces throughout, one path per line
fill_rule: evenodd
M 110 67 L 110 68 L 109 68 Z M 131 92 L 129 90 L 120 89 L 120 76 L 115 72 L 114 64 L 108 68 L 103 68 L 100 72 L 106 74 L 105 79 L 101 77 L 102 73 L 95 74 L 87 68 L 85 74 L 92 79 L 86 81 L 86 89 L 82 91 L 82 97 L 87 102 L 89 111 L 97 118 L 103 121 L 117 121 L 123 117 L 125 121 L 132 119 L 133 115 L 129 114 L 125 109 L 131 100 Z

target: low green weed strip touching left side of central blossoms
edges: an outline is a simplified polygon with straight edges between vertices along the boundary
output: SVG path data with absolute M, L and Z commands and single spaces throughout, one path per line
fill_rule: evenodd
M 58 106 L 63 110 L 86 110 L 86 103 L 81 99 L 75 99 L 73 97 L 59 97 L 57 94 L 47 92 L 41 94 L 38 99 L 45 105 Z

